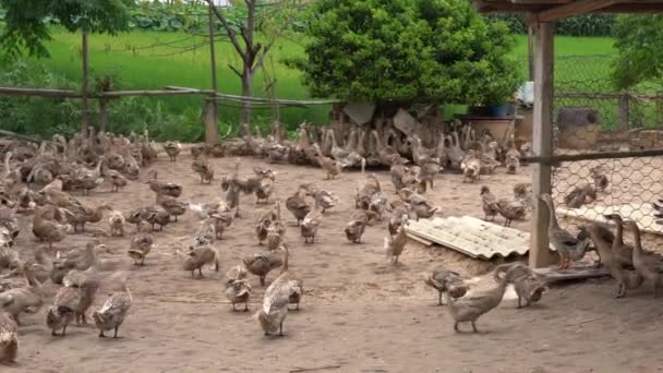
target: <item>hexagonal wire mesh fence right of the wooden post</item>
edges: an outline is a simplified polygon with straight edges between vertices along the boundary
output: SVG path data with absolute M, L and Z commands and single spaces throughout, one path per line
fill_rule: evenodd
M 553 167 L 557 216 L 577 231 L 616 213 L 654 234 L 646 240 L 661 239 L 663 226 L 652 202 L 663 197 L 663 157 L 637 152 L 663 148 L 663 86 L 648 83 L 618 92 L 610 80 L 610 56 L 556 60 L 554 154 L 603 153 L 601 159 Z

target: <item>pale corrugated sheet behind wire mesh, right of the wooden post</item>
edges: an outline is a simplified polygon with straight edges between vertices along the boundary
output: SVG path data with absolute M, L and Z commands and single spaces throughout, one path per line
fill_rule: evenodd
M 630 203 L 624 205 L 600 205 L 594 204 L 591 206 L 583 206 L 580 208 L 556 208 L 558 216 L 565 216 L 567 218 L 579 219 L 584 221 L 603 221 L 604 214 L 619 214 L 624 218 L 636 221 L 638 227 L 643 232 L 663 234 L 661 226 L 655 224 L 654 210 L 650 204 L 646 203 Z

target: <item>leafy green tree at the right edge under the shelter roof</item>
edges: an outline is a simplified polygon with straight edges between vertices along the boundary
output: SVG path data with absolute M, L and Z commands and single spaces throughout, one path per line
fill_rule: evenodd
M 619 89 L 663 79 L 663 14 L 619 16 L 613 80 Z

